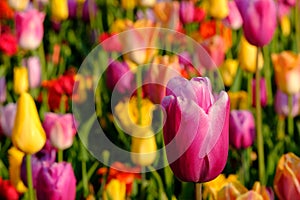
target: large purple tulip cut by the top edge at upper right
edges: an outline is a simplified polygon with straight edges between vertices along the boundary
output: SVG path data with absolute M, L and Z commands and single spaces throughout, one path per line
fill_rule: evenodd
M 235 0 L 243 18 L 244 35 L 252 45 L 268 44 L 276 29 L 274 0 Z

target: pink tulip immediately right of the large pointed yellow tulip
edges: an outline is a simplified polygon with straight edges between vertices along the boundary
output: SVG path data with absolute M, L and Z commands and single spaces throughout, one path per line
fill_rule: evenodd
M 72 146 L 77 128 L 72 114 L 46 113 L 43 127 L 54 147 L 64 150 Z

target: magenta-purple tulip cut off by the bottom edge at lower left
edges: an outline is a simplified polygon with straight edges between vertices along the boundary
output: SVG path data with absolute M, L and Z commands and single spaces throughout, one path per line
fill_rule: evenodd
M 37 177 L 36 194 L 43 200 L 74 200 L 76 178 L 72 165 L 67 162 L 43 165 Z

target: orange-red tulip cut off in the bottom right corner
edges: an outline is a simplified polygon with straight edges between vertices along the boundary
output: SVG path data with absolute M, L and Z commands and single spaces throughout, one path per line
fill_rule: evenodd
M 300 199 L 300 158 L 293 153 L 281 156 L 274 178 L 279 199 Z

